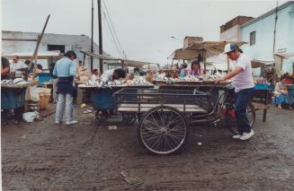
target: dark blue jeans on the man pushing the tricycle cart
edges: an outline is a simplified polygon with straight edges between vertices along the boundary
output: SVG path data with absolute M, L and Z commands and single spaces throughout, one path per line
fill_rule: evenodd
M 254 97 L 254 89 L 244 89 L 235 92 L 235 114 L 236 114 L 236 125 L 238 128 L 238 133 L 243 135 L 243 133 L 249 133 L 251 131 L 251 126 L 247 117 L 247 107 L 250 100 Z

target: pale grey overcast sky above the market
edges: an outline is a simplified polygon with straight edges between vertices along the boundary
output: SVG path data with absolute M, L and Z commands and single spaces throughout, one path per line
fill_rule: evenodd
M 2 29 L 91 37 L 91 0 L 2 0 Z M 279 1 L 279 4 L 285 1 Z M 166 63 L 185 36 L 218 40 L 219 26 L 238 15 L 257 17 L 276 1 L 102 0 L 128 58 Z M 107 15 L 104 5 L 103 12 Z M 97 0 L 94 41 L 98 44 Z M 103 50 L 120 56 L 103 16 Z M 177 39 L 171 39 L 174 36 Z

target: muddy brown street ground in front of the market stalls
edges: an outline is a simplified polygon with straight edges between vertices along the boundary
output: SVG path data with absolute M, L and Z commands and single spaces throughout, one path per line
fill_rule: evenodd
M 248 142 L 223 127 L 192 126 L 172 156 L 146 152 L 136 126 L 97 126 L 93 115 L 76 114 L 71 127 L 55 125 L 54 115 L 2 126 L 3 190 L 294 190 L 293 110 L 271 108 L 266 123 L 258 112 Z

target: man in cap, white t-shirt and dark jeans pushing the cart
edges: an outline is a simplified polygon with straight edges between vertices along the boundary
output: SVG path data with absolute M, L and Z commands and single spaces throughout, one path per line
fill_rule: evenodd
M 247 140 L 254 135 L 254 130 L 249 124 L 246 109 L 254 96 L 254 80 L 252 77 L 251 59 L 242 53 L 235 43 L 228 43 L 224 54 L 233 60 L 232 71 L 219 79 L 219 82 L 232 79 L 235 87 L 235 113 L 238 134 L 234 139 Z

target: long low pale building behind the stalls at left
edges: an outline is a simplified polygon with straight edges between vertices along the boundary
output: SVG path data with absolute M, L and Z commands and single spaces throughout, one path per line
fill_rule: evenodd
M 36 48 L 39 33 L 22 31 L 2 31 L 2 55 L 13 53 L 33 52 Z M 39 51 L 60 50 L 61 53 L 67 50 L 75 50 L 79 60 L 84 60 L 84 55 L 79 50 L 91 51 L 91 39 L 85 35 L 66 35 L 44 33 L 40 42 Z M 94 52 L 99 52 L 99 47 L 94 43 Z M 105 53 L 104 53 L 105 54 Z M 85 68 L 90 70 L 90 56 L 85 57 Z M 49 60 L 40 60 L 44 68 L 48 67 Z M 99 69 L 99 59 L 94 59 L 94 68 Z M 108 65 L 103 65 L 103 71 Z

